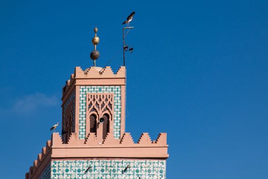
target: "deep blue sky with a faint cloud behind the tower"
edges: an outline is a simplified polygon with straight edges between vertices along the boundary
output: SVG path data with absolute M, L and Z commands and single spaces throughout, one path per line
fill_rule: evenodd
M 126 130 L 167 132 L 167 178 L 268 177 L 267 1 L 1 1 L 3 178 L 23 178 L 61 122 L 61 90 L 75 66 L 123 64 Z

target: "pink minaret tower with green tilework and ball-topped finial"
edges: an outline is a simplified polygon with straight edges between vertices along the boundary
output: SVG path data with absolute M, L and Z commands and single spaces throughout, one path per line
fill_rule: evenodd
M 151 140 L 144 132 L 135 143 L 125 131 L 126 68 L 114 73 L 95 66 L 100 39 L 94 32 L 93 66 L 76 67 L 66 81 L 61 133 L 52 134 L 26 179 L 165 178 L 166 133 Z

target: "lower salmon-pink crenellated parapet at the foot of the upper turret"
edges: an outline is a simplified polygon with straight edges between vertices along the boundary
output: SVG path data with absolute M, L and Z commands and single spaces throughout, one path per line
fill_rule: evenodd
M 37 155 L 37 160 L 26 173 L 26 179 L 40 178 L 43 171 L 50 169 L 50 175 L 55 170 L 50 163 L 59 160 L 80 159 L 157 159 L 168 158 L 166 133 L 159 133 L 155 141 L 151 141 L 149 133 L 142 133 L 138 142 L 134 143 L 130 133 L 124 133 L 121 139 L 115 139 L 111 133 L 107 133 L 101 143 L 95 133 L 88 133 L 86 139 L 79 139 L 77 133 L 71 133 L 67 143 L 59 133 L 53 133 L 51 140 L 46 142 L 46 147 Z M 82 167 L 83 168 L 83 167 Z M 125 167 L 122 166 L 121 170 Z

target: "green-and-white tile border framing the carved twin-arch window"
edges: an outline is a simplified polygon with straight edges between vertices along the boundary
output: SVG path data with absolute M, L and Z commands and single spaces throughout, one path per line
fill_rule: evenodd
M 87 93 L 113 93 L 113 135 L 120 138 L 121 125 L 121 86 L 80 86 L 80 109 L 79 109 L 79 139 L 86 138 L 86 94 Z

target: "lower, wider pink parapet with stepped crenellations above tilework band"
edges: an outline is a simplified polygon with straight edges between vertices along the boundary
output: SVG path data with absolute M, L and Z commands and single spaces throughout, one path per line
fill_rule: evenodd
M 137 143 L 134 143 L 129 132 L 124 133 L 121 139 L 115 139 L 111 133 L 107 133 L 105 139 L 102 143 L 98 143 L 98 139 L 95 133 L 88 133 L 86 139 L 79 139 L 77 133 L 71 133 L 67 143 L 63 142 L 62 137 L 58 132 L 52 133 L 50 141 L 46 142 L 46 147 L 42 148 L 42 152 L 37 155 L 37 160 L 34 161 L 33 166 L 30 167 L 29 172 L 26 173 L 26 179 L 32 178 L 37 170 L 40 167 L 44 167 L 46 162 L 46 156 L 53 158 L 61 158 L 64 156 L 72 156 L 72 149 L 82 149 L 81 154 L 84 156 L 80 157 L 114 157 L 114 153 L 117 153 L 117 157 L 135 157 L 135 158 L 152 158 L 158 156 L 158 158 L 168 158 L 166 144 L 166 133 L 159 133 L 155 142 L 152 142 L 149 133 L 144 132 L 141 134 Z M 136 153 L 142 151 L 143 155 L 137 156 L 135 153 L 130 150 L 133 149 Z M 162 150 L 161 150 L 162 148 Z M 60 151 L 64 149 L 64 152 Z M 68 151 L 70 149 L 70 151 Z M 103 150 L 104 152 L 99 152 L 98 155 L 95 155 L 91 151 Z M 157 150 L 154 150 L 157 149 Z M 54 152 L 55 150 L 55 152 Z M 100 155 L 103 153 L 103 155 Z M 116 155 L 115 155 L 116 156 Z

